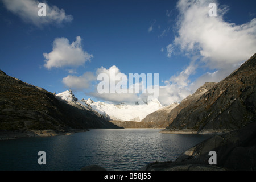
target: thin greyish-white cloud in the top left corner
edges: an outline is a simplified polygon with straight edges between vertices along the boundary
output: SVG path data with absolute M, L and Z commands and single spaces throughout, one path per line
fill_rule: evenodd
M 59 9 L 57 6 L 46 4 L 46 17 L 39 17 L 38 0 L 2 0 L 6 9 L 18 15 L 24 22 L 34 24 L 41 27 L 46 24 L 62 24 L 64 22 L 71 22 L 73 20 L 72 15 L 67 15 L 63 9 Z

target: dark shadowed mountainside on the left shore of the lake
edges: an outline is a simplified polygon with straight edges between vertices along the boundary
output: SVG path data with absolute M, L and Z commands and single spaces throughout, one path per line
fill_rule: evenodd
M 84 107 L 78 109 L 66 104 L 55 98 L 54 94 L 7 76 L 0 71 L 0 130 L 2 135 L 6 136 L 13 132 L 51 135 L 51 131 L 63 133 L 110 127 L 117 126 L 106 121 L 98 113 Z

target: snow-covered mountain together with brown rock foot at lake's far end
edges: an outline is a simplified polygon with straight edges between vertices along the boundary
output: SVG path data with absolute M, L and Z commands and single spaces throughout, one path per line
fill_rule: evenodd
M 72 93 L 72 90 L 58 93 L 56 94 L 56 98 L 72 106 L 78 108 L 83 107 L 86 110 L 98 113 L 107 121 L 122 128 L 165 128 L 168 126 L 164 125 L 163 127 L 152 122 L 141 122 L 141 119 L 146 117 L 146 115 L 164 107 L 158 100 L 141 101 L 134 104 L 109 104 L 105 102 L 94 102 L 90 98 L 88 100 L 84 98 L 78 100 Z

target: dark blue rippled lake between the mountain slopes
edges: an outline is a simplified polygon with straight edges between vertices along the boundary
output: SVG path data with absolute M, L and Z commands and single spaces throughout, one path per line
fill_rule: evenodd
M 55 137 L 0 141 L 0 170 L 77 171 L 97 164 L 107 170 L 135 171 L 170 161 L 209 135 L 161 134 L 160 129 L 94 129 Z M 38 152 L 46 152 L 46 165 Z

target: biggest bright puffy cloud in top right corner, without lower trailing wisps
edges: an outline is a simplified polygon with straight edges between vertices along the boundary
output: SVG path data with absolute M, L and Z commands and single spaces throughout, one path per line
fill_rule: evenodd
M 209 16 L 212 0 L 180 0 L 179 27 L 173 46 L 198 54 L 209 68 L 223 68 L 249 59 L 256 50 L 256 19 L 236 25 L 224 21 L 228 8 L 217 3 L 217 17 Z M 223 7 L 223 6 L 222 6 Z

